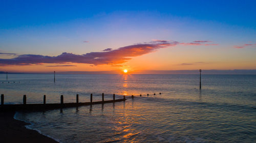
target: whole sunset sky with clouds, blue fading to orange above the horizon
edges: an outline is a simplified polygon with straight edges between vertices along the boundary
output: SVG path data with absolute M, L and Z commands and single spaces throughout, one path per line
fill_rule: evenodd
M 256 69 L 256 1 L 0 1 L 0 71 Z

